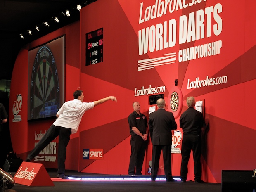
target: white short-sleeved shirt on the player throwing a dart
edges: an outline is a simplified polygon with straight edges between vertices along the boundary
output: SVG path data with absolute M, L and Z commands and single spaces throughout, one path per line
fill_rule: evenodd
M 70 128 L 71 133 L 76 133 L 85 111 L 93 109 L 94 102 L 86 103 L 78 99 L 65 102 L 59 109 L 57 114 L 59 118 L 55 120 L 53 125 Z

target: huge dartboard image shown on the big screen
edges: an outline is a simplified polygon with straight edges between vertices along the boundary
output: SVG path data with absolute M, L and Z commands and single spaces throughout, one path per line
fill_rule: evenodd
M 48 47 L 37 52 L 31 77 L 31 119 L 55 116 L 59 106 L 59 81 L 55 59 Z

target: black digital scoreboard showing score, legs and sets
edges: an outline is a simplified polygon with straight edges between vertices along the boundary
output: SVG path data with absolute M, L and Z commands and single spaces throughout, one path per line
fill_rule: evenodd
M 86 34 L 85 66 L 103 62 L 103 28 Z

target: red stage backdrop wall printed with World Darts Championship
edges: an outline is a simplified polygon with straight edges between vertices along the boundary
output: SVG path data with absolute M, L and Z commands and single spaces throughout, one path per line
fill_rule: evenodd
M 35 133 L 45 133 L 54 121 L 27 122 L 28 50 L 65 35 L 65 101 L 73 99 L 77 87 L 84 91 L 86 102 L 109 95 L 118 100 L 85 113 L 79 133 L 68 145 L 66 169 L 128 174 L 127 118 L 132 103 L 140 102 L 148 118 L 149 107 L 155 106 L 149 104 L 149 96 L 163 94 L 178 127 L 186 98 L 204 101 L 204 181 L 221 183 L 222 170 L 253 170 L 255 6 L 254 0 L 98 0 L 84 7 L 80 25 L 26 45 L 17 57 L 9 106 L 14 152 L 26 158 L 35 145 Z M 177 176 L 182 134 L 181 128 L 173 132 L 172 173 Z M 143 174 L 152 155 L 148 140 Z M 189 180 L 194 179 L 193 166 L 191 157 Z M 164 175 L 162 162 L 158 174 Z

